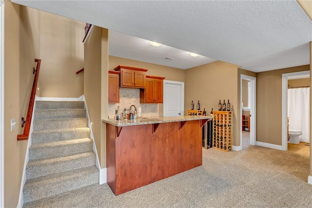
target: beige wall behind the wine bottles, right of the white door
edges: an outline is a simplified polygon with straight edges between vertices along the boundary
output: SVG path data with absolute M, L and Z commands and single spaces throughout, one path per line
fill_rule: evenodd
M 239 113 L 237 101 L 238 71 L 237 65 L 223 61 L 215 61 L 185 71 L 184 112 L 190 109 L 191 102 L 200 102 L 201 109 L 210 112 L 218 109 L 219 100 L 230 99 L 233 119 L 233 145 L 239 146 Z M 239 106 L 240 107 L 240 106 Z M 238 120 L 239 119 L 239 120 Z

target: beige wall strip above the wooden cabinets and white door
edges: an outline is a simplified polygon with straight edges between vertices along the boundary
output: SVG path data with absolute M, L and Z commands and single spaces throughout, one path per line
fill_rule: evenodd
M 114 68 L 117 67 L 118 65 L 133 66 L 147 69 L 148 70 L 146 73 L 147 75 L 164 76 L 166 77 L 165 78 L 166 80 L 179 82 L 185 81 L 185 70 L 168 66 L 162 66 L 153 63 L 136 61 L 127 58 L 109 56 L 108 69 L 114 70 Z

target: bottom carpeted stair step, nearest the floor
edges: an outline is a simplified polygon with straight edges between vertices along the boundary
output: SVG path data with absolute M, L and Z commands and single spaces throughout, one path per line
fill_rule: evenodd
M 27 180 L 23 189 L 24 203 L 47 198 L 98 183 L 95 165 Z

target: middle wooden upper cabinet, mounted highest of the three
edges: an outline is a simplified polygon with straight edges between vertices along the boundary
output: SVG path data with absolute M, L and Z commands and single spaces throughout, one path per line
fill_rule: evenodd
M 115 70 L 120 71 L 120 87 L 145 88 L 147 69 L 118 65 Z

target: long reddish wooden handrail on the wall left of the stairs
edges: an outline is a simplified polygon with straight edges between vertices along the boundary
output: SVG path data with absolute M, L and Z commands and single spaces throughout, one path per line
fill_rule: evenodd
M 34 104 L 35 104 L 35 96 L 36 96 L 36 90 L 37 90 L 37 83 L 38 83 L 41 59 L 35 59 L 35 61 L 37 62 L 37 67 L 36 67 L 36 71 L 35 71 L 33 88 L 31 90 L 30 99 L 29 99 L 29 105 L 28 105 L 27 116 L 26 116 L 26 123 L 25 123 L 23 134 L 18 134 L 18 138 L 17 138 L 18 141 L 28 140 L 28 137 L 29 137 L 30 124 L 31 124 L 31 118 L 33 116 L 33 109 L 34 109 Z

